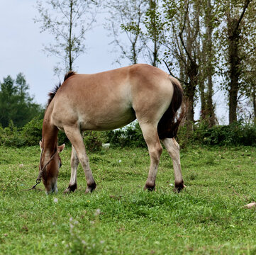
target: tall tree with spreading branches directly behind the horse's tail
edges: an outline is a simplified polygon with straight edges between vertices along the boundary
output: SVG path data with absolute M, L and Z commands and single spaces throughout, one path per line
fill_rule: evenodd
M 194 1 L 165 0 L 165 15 L 169 35 L 165 47 L 165 64 L 169 73 L 179 72 L 179 80 L 184 85 L 184 96 L 187 105 L 188 129 L 194 123 L 194 103 L 196 87 L 199 83 L 199 49 L 200 49 L 200 5 Z M 176 75 L 177 77 L 177 75 Z

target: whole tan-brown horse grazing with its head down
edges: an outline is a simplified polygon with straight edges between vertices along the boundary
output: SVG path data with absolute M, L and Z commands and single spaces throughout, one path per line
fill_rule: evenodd
M 40 172 L 45 192 L 57 192 L 61 166 L 57 145 L 58 130 L 64 130 L 72 143 L 71 178 L 66 193 L 77 188 L 77 166 L 82 164 L 87 179 L 86 192 L 96 183 L 89 167 L 82 132 L 113 130 L 137 118 L 150 154 L 150 171 L 145 189 L 155 189 L 155 178 L 163 145 L 172 158 L 175 188 L 184 188 L 179 145 L 174 140 L 181 117 L 182 86 L 177 79 L 148 64 L 135 64 L 98 74 L 69 72 L 62 85 L 49 94 L 40 141 Z

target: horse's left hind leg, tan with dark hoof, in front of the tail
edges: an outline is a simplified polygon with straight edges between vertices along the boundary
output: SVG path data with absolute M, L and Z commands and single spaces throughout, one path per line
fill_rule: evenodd
M 140 128 L 143 132 L 143 137 L 148 145 L 148 152 L 150 154 L 150 171 L 148 173 L 148 179 L 145 183 L 144 189 L 153 191 L 155 190 L 155 179 L 157 176 L 157 168 L 160 161 L 160 156 L 162 154 L 162 146 L 157 134 L 157 125 L 140 123 Z

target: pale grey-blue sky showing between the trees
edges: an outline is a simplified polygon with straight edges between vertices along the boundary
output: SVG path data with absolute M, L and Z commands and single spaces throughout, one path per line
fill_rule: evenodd
M 47 32 L 40 33 L 40 24 L 34 23 L 33 18 L 38 16 L 35 0 L 0 0 L 0 4 L 0 81 L 8 75 L 16 79 L 16 75 L 22 72 L 34 101 L 45 105 L 48 92 L 60 82 L 53 72 L 59 60 L 43 52 L 43 45 L 54 38 Z M 87 51 L 75 62 L 79 73 L 91 74 L 120 67 L 114 62 L 117 55 L 113 53 L 109 31 L 103 26 L 104 15 L 99 14 L 96 20 L 96 26 L 86 35 Z M 128 64 L 128 61 L 123 60 L 122 66 Z M 216 102 L 218 119 L 221 123 L 227 123 L 228 108 L 223 103 L 225 98 L 216 94 L 213 100 Z M 196 119 L 199 118 L 199 108 L 198 104 Z

